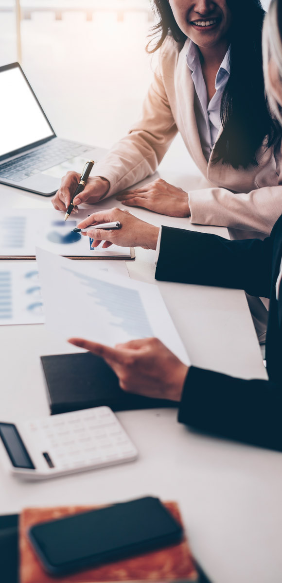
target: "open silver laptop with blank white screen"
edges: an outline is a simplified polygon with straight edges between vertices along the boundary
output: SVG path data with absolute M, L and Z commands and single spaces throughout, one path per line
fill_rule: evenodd
M 51 196 L 106 150 L 57 138 L 19 63 L 0 67 L 0 183 Z

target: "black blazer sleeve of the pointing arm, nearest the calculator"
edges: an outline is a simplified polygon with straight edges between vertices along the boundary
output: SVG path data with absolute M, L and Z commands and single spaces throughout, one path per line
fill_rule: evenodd
M 190 367 L 178 420 L 192 429 L 282 451 L 282 388 Z

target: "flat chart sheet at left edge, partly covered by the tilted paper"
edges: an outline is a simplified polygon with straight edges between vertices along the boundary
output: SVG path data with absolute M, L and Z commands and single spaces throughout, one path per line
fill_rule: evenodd
M 113 273 L 128 277 L 124 261 L 85 263 L 85 273 Z M 0 326 L 43 324 L 44 306 L 37 263 L 5 261 L 0 264 Z

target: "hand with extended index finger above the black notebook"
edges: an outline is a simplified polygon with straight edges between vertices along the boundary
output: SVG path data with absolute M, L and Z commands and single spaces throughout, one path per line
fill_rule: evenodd
M 106 360 L 124 391 L 180 401 L 188 367 L 161 340 L 131 340 L 114 348 L 81 338 L 71 338 L 68 342 Z

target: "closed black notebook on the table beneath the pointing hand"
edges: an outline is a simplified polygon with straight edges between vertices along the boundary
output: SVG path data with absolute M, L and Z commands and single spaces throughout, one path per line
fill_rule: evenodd
M 90 352 L 41 356 L 51 415 L 101 405 L 113 411 L 176 407 L 175 401 L 125 393 L 103 359 Z

